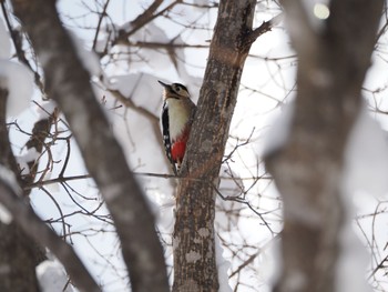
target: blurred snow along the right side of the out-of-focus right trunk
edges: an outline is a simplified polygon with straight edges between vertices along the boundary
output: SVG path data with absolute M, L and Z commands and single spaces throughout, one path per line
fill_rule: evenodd
M 388 137 L 364 105 L 350 132 L 341 181 L 345 223 L 339 234 L 340 256 L 336 266 L 336 291 L 366 292 L 368 256 L 353 230 L 354 202 L 361 194 L 381 198 L 388 192 Z M 355 200 L 356 199 L 356 200 Z

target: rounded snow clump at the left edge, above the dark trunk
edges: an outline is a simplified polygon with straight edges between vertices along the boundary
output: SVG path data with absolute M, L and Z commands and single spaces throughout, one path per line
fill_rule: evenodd
M 33 89 L 33 77 L 24 66 L 0 59 L 0 87 L 8 89 L 7 117 L 28 109 Z

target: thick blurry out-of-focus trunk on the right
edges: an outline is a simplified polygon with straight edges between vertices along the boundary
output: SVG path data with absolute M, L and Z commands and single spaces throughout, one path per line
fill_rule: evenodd
M 266 157 L 284 199 L 283 270 L 274 291 L 335 291 L 344 150 L 360 110 L 382 1 L 333 0 L 321 30 L 303 1 L 282 2 L 299 63 L 288 140 Z

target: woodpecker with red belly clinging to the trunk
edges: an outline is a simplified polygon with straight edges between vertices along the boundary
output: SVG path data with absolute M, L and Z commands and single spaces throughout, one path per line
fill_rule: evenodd
M 161 117 L 163 143 L 174 174 L 177 175 L 186 151 L 196 105 L 185 85 L 157 82 L 164 88 Z

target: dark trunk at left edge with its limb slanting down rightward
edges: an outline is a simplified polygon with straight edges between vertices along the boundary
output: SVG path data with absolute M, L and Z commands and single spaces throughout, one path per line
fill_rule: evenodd
M 101 291 L 75 252 L 52 231 L 29 205 L 29 191 L 18 175 L 6 125 L 8 91 L 0 88 L 0 202 L 12 215 L 9 224 L 0 222 L 0 291 L 39 291 L 35 266 L 45 260 L 48 246 L 62 261 L 80 291 Z M 41 141 L 42 142 L 42 141 Z M 4 181 L 7 173 L 16 178 Z M 38 243 L 40 245 L 38 245 Z

